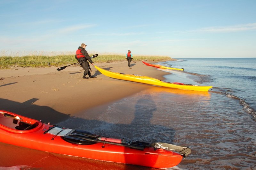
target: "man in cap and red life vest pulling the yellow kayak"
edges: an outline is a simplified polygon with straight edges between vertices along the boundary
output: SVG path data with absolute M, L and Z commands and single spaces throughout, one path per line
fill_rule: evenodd
M 76 60 L 79 62 L 79 64 L 83 67 L 84 69 L 84 76 L 83 78 L 88 79 L 87 77 L 85 77 L 87 74 L 89 76 L 89 78 L 95 78 L 91 75 L 91 67 L 89 65 L 89 62 L 93 65 L 93 62 L 90 58 L 90 55 L 87 53 L 87 51 L 85 50 L 85 47 L 87 45 L 85 45 L 84 43 L 81 44 L 80 47 L 78 47 L 78 50 L 76 50 Z M 87 62 L 88 61 L 88 62 Z

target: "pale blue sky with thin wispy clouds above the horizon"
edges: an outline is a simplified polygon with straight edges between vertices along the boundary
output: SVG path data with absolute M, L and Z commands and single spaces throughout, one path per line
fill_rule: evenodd
M 256 0 L 0 0 L 0 50 L 256 57 Z

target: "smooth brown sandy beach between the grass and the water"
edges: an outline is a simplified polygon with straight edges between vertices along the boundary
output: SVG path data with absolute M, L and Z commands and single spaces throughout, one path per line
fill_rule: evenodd
M 142 62 L 94 63 L 100 68 L 163 80 L 166 74 Z M 12 68 L 0 70 L 0 108 L 44 122 L 57 123 L 91 107 L 119 100 L 150 85 L 109 78 L 92 66 L 92 76 L 83 79 L 83 68 L 69 66 Z

